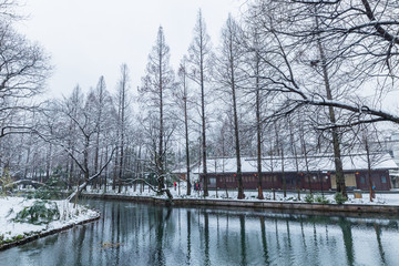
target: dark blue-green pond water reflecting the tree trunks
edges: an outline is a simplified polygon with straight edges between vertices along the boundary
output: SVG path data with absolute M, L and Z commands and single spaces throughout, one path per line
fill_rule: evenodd
M 399 217 L 86 203 L 100 221 L 0 252 L 0 265 L 399 265 Z

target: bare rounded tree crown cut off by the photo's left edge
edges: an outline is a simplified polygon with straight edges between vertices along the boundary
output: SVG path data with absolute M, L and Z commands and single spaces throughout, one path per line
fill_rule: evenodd
M 11 2 L 1 1 L 0 13 L 2 4 Z M 32 127 L 18 123 L 17 116 L 37 110 L 32 96 L 43 90 L 50 71 L 48 61 L 38 44 L 32 44 L 0 17 L 0 139 L 31 132 Z

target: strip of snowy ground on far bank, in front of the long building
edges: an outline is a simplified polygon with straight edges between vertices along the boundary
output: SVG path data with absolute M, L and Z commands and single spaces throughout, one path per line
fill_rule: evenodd
M 181 184 L 181 188 L 178 192 L 178 186 L 176 188 L 168 187 L 174 198 L 204 198 L 203 197 L 203 191 L 196 192 L 192 191 L 191 195 L 186 195 L 186 186 L 183 183 Z M 92 190 L 91 187 L 88 187 L 89 193 L 99 193 L 103 194 L 103 190 Z M 237 198 L 237 190 L 228 190 L 227 195 L 225 190 L 218 190 L 217 195 L 216 191 L 208 191 L 209 196 L 207 198 L 212 200 L 236 200 Z M 245 191 L 245 200 L 244 201 L 258 201 L 257 197 L 257 191 Z M 153 191 L 149 191 L 147 186 L 144 186 L 144 191 L 140 192 L 140 186 L 136 186 L 136 190 L 134 191 L 134 187 L 123 187 L 122 193 L 119 194 L 116 192 L 113 192 L 111 187 L 108 188 L 106 194 L 115 194 L 115 195 L 129 195 L 129 196 L 156 196 L 156 193 Z M 300 201 L 298 201 L 298 193 L 297 192 L 287 192 L 287 196 L 284 197 L 283 191 L 276 191 L 276 202 L 305 202 L 305 196 L 309 194 L 309 192 L 300 192 Z M 399 192 L 396 193 L 379 193 L 376 192 L 376 198 L 374 202 L 369 201 L 369 193 L 362 192 L 361 198 L 355 198 L 354 192 L 348 192 L 349 201 L 346 202 L 346 204 L 383 204 L 383 205 L 399 205 Z M 315 196 L 321 196 L 320 192 L 314 193 Z M 329 200 L 329 202 L 334 203 L 335 194 L 331 192 L 325 193 L 325 197 Z M 166 195 L 161 195 L 157 197 L 166 198 Z M 274 202 L 273 201 L 273 193 L 270 191 L 264 191 L 264 197 L 265 202 Z

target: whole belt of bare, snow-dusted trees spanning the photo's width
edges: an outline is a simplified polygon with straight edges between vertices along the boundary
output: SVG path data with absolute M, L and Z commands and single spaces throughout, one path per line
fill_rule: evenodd
M 12 29 L 13 7 L 0 3 L 0 167 L 13 178 L 45 182 L 57 170 L 69 187 L 121 192 L 143 178 L 161 191 L 173 171 L 207 176 L 207 158 L 234 156 L 243 198 L 241 161 L 252 156 L 263 198 L 263 157 L 326 154 L 346 194 L 342 154 L 382 151 L 378 122 L 399 122 L 382 101 L 398 68 L 399 7 L 388 0 L 246 1 L 217 45 L 200 10 L 178 69 L 158 29 L 137 98 L 122 64 L 115 93 L 101 76 L 86 94 L 76 86 L 40 104 L 48 59 Z

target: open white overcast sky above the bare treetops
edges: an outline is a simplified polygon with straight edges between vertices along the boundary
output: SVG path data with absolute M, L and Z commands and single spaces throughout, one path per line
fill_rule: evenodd
M 38 41 L 54 65 L 48 96 L 68 96 L 79 83 L 86 92 L 105 76 L 114 91 L 120 65 L 127 63 L 132 89 L 141 84 L 157 29 L 164 28 L 171 63 L 178 65 L 193 38 L 201 8 L 214 45 L 228 13 L 243 0 L 28 0 L 19 29 Z

